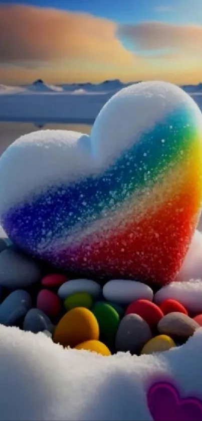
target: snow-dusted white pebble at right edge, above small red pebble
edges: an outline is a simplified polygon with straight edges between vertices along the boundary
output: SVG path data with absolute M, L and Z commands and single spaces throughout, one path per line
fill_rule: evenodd
M 188 280 L 187 282 L 171 282 L 165 285 L 154 296 L 156 304 L 172 299 L 181 303 L 186 310 L 194 313 L 202 313 L 202 282 L 200 279 Z

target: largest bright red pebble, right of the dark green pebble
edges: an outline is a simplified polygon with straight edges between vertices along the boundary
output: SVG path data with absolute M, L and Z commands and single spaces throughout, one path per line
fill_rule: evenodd
M 126 309 L 125 314 L 135 313 L 142 317 L 149 326 L 154 327 L 163 317 L 162 311 L 156 304 L 148 300 L 133 301 Z

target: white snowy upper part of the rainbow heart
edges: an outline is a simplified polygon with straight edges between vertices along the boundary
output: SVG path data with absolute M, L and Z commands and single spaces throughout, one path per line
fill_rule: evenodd
M 49 187 L 85 179 L 110 164 L 141 133 L 175 108 L 187 105 L 198 118 L 195 102 L 167 82 L 141 82 L 123 88 L 98 114 L 91 136 L 65 130 L 39 130 L 21 136 L 0 159 L 0 214 Z

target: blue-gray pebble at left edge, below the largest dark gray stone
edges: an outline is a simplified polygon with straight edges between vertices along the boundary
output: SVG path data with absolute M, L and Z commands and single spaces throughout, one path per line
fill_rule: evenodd
M 31 307 L 30 294 L 24 290 L 14 291 L 0 305 L 0 323 L 5 326 L 15 326 Z

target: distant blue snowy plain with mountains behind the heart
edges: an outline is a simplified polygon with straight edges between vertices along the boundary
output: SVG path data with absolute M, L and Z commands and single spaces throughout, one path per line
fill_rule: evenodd
M 39 79 L 25 86 L 0 85 L 0 121 L 93 124 L 105 102 L 132 83 L 115 79 L 54 86 Z M 181 87 L 202 107 L 202 84 Z

